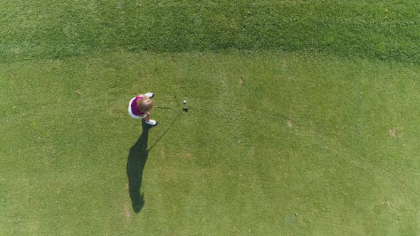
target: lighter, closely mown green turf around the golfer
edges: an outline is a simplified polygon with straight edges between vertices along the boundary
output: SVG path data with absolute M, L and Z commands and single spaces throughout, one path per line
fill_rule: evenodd
M 415 235 L 420 68 L 295 53 L 126 53 L 0 66 L 1 235 Z M 4 89 L 8 88 L 8 89 Z M 139 92 L 182 114 L 126 164 Z M 179 111 L 154 109 L 154 144 Z

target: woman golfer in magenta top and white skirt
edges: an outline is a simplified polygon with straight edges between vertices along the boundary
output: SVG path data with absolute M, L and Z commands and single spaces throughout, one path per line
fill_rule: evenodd
M 137 97 L 132 98 L 130 103 L 128 103 L 128 114 L 134 119 L 145 119 L 146 124 L 156 125 L 157 122 L 153 119 L 150 119 L 150 109 L 153 107 L 153 100 L 151 98 L 154 96 L 152 92 L 147 92 L 144 95 L 138 95 Z

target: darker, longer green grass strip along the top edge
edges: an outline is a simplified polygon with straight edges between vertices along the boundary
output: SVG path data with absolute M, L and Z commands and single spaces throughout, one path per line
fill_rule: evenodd
M 419 1 L 6 1 L 0 58 L 280 49 L 420 62 Z

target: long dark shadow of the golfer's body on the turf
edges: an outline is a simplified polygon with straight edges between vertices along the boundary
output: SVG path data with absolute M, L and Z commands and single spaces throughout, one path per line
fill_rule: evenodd
M 147 151 L 149 129 L 150 126 L 142 120 L 142 134 L 130 148 L 127 159 L 128 193 L 135 213 L 140 213 L 143 205 L 145 205 L 143 195 L 140 194 L 140 188 L 142 186 L 143 170 L 149 154 L 149 151 Z

